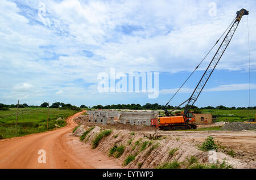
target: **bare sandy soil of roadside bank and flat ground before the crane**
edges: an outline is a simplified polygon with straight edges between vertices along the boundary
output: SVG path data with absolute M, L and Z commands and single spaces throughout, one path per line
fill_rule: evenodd
M 160 131 L 151 126 L 131 126 L 117 122 L 114 125 L 99 125 L 89 122 L 88 117 L 75 118 L 75 122 L 78 125 L 83 125 L 76 130 L 81 131 L 80 133 L 75 131 L 75 134 L 79 133 L 79 135 L 89 127 L 95 126 L 82 141 L 87 145 L 92 145 L 96 135 L 102 130 L 113 130 L 109 136 L 100 140 L 96 149 L 104 153 L 105 156 L 109 156 L 111 148 L 125 147 L 120 157 L 111 157 L 119 165 L 123 165 L 127 157 L 134 157 L 129 164 L 123 165 L 124 168 L 156 168 L 165 162 L 172 161 L 181 162 L 181 168 L 185 168 L 184 163 L 191 156 L 196 157 L 201 164 L 209 164 L 209 152 L 201 151 L 198 148 L 198 145 L 201 145 L 208 136 L 212 136 L 221 147 L 217 152 L 219 162 L 225 160 L 234 168 L 256 167 L 256 131 Z M 202 125 L 201 127 L 205 126 L 220 126 L 220 124 Z M 148 139 L 150 135 L 156 134 L 162 138 Z M 142 148 L 143 144 L 146 144 L 144 149 Z M 152 148 L 153 146 L 155 148 Z M 177 149 L 174 155 L 170 155 L 172 149 Z M 228 155 L 228 152 L 233 153 Z

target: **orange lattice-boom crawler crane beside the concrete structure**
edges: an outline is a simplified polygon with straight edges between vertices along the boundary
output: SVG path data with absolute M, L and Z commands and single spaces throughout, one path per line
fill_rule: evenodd
M 200 93 L 202 92 L 205 84 L 208 82 L 208 79 L 210 78 L 210 75 L 212 75 L 213 70 L 217 66 L 218 62 L 220 61 L 220 59 L 223 55 L 223 53 L 225 52 L 226 48 L 228 47 L 229 42 L 231 41 L 231 39 L 234 35 L 234 32 L 236 32 L 236 29 L 238 27 L 238 24 L 241 21 L 242 16 L 243 15 L 248 15 L 248 14 L 249 14 L 249 11 L 245 10 L 244 8 L 242 8 L 240 11 L 237 11 L 236 18 L 230 24 L 231 27 L 229 25 L 230 29 L 229 29 L 228 33 L 226 33 L 226 36 L 224 37 L 224 40 L 221 42 L 220 47 L 218 48 L 217 52 L 215 53 L 214 57 L 212 58 L 212 61 L 210 61 L 209 66 L 205 70 L 202 78 L 200 79 L 199 83 L 197 84 L 197 86 L 196 86 L 195 90 L 193 91 L 191 97 L 189 97 L 188 100 L 184 101 L 182 104 L 177 106 L 177 108 L 179 108 L 181 105 L 183 105 L 185 102 L 187 102 L 187 105 L 185 106 L 184 111 L 179 113 L 179 114 L 172 114 L 172 112 L 174 112 L 174 110 L 177 109 L 177 108 L 175 108 L 171 112 L 168 112 L 168 110 L 166 110 L 166 106 L 171 101 L 170 100 L 170 101 L 167 102 L 167 104 L 164 108 L 164 114 L 166 114 L 166 117 L 159 117 L 158 119 L 151 119 L 151 125 L 152 126 L 156 126 L 156 127 L 160 128 L 162 130 L 176 130 L 176 129 L 196 128 L 195 117 L 194 117 L 192 112 L 189 112 L 189 110 L 191 109 L 191 106 L 193 104 L 195 104 L 195 102 L 196 102 L 197 98 L 199 97 Z M 226 29 L 226 31 L 227 31 L 227 29 Z M 222 36 L 223 35 L 224 34 L 222 34 Z M 218 43 L 220 38 L 217 40 L 216 44 Z M 212 49 L 210 49 L 210 51 Z M 208 54 L 209 54 L 209 52 L 207 53 L 207 55 Z M 205 59 L 205 57 L 204 57 L 204 59 Z M 203 62 L 204 59 L 201 62 Z M 200 64 L 201 64 L 201 62 L 200 62 Z M 196 67 L 196 69 L 199 67 L 199 65 Z M 195 70 L 193 72 L 195 72 Z M 193 74 L 193 72 L 192 72 L 192 74 Z M 188 79 L 191 77 L 191 75 L 188 77 Z M 185 80 L 185 82 L 187 82 L 187 80 Z M 183 83 L 183 85 L 185 84 L 185 82 Z M 181 85 L 181 87 L 183 85 Z M 179 89 L 178 89 L 178 91 L 179 91 Z M 175 95 L 176 95 L 176 93 L 175 93 Z M 174 96 L 172 96 L 172 98 Z

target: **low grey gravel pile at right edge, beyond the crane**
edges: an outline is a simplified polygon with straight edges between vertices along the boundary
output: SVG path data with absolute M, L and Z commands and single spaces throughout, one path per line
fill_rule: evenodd
M 256 124 L 246 124 L 243 122 L 232 122 L 232 123 L 226 123 L 222 130 L 228 130 L 228 131 L 242 131 L 242 130 L 255 130 Z

